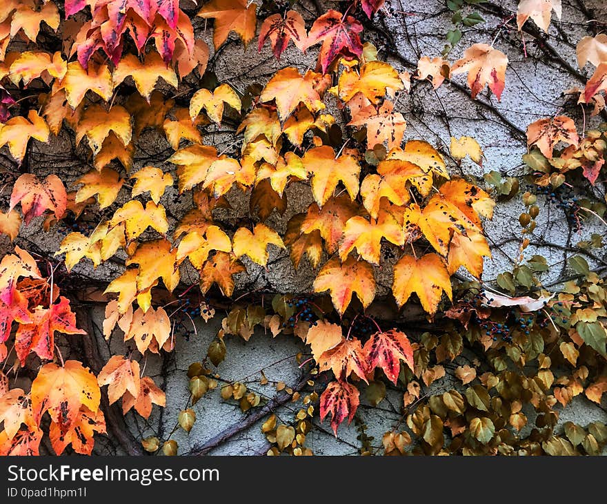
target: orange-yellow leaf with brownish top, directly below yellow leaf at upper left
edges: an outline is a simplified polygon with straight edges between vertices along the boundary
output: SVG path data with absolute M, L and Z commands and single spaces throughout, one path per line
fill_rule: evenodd
M 76 127 L 76 143 L 79 144 L 86 136 L 93 154 L 97 155 L 110 131 L 115 133 L 123 145 L 130 144 L 132 128 L 128 110 L 120 105 L 115 105 L 110 110 L 99 105 L 89 106 Z

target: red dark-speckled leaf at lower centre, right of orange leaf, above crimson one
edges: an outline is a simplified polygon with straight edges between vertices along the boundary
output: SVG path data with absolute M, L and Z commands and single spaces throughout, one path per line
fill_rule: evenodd
M 399 376 L 401 360 L 413 371 L 413 348 L 406 334 L 397 329 L 373 334 L 365 343 L 364 353 L 369 371 L 381 368 L 394 385 Z

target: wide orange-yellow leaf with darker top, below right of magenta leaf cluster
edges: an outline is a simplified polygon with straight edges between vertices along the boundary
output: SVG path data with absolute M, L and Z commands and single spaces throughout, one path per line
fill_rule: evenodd
M 166 66 L 161 56 L 155 51 L 148 52 L 143 62 L 139 61 L 135 55 L 123 57 L 112 73 L 114 89 L 129 76 L 135 81 L 139 94 L 148 101 L 158 79 L 163 79 L 174 88 L 179 86 L 175 70 L 171 66 Z

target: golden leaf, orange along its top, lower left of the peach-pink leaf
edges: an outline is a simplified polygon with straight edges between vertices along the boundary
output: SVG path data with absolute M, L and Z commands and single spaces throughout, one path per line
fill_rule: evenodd
M 336 157 L 333 148 L 324 145 L 306 151 L 302 160 L 312 175 L 312 195 L 319 206 L 328 201 L 340 181 L 351 200 L 357 196 L 360 165 L 355 157 L 348 154 Z

